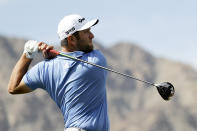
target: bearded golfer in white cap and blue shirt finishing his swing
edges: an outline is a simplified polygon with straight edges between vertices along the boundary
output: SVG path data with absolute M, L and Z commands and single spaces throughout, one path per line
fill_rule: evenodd
M 80 15 L 65 16 L 58 25 L 61 52 L 106 67 L 99 50 L 94 50 L 91 27 L 98 19 L 87 21 Z M 52 46 L 29 40 L 15 65 L 8 92 L 29 93 L 37 88 L 48 92 L 64 116 L 64 131 L 109 131 L 105 70 L 80 61 L 50 53 Z M 30 70 L 36 54 L 44 61 Z

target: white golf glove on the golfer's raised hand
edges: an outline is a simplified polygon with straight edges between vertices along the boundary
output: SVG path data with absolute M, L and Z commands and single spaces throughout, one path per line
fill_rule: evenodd
M 29 40 L 25 43 L 24 52 L 27 58 L 33 59 L 38 53 L 38 42 L 35 40 Z

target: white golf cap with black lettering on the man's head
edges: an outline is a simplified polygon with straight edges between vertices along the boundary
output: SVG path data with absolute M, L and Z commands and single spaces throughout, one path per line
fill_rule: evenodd
M 98 19 L 87 21 L 84 17 L 77 14 L 68 15 L 58 24 L 57 34 L 60 40 L 63 40 L 76 31 L 85 30 L 96 25 L 98 21 Z

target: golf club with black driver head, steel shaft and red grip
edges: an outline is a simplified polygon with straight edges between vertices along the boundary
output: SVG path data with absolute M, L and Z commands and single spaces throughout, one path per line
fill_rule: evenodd
M 73 59 L 73 60 L 76 60 L 76 61 L 81 61 L 83 63 L 87 63 L 87 64 L 90 64 L 90 65 L 96 66 L 98 68 L 101 68 L 101 69 L 104 69 L 104 70 L 107 70 L 107 71 L 110 71 L 110 72 L 113 72 L 113 73 L 116 73 L 116 74 L 119 74 L 119 75 L 122 75 L 122 76 L 125 76 L 125 77 L 128 77 L 128 78 L 131 78 L 131 79 L 134 79 L 134 80 L 137 80 L 137 81 L 149 84 L 149 85 L 152 85 L 154 87 L 157 87 L 157 90 L 158 90 L 159 94 L 161 95 L 161 97 L 164 100 L 170 100 L 170 98 L 175 93 L 174 86 L 169 82 L 163 82 L 163 83 L 160 83 L 160 84 L 155 84 L 155 83 L 152 83 L 152 82 L 148 82 L 148 81 L 145 81 L 145 80 L 138 79 L 138 78 L 133 77 L 133 76 L 128 75 L 128 74 L 121 73 L 119 71 L 115 71 L 113 69 L 110 69 L 110 68 L 107 68 L 107 67 L 104 67 L 104 66 L 100 66 L 100 65 L 90 63 L 88 61 L 85 61 L 85 60 L 82 60 L 82 59 L 79 59 L 79 58 L 76 58 L 76 57 L 72 57 L 70 55 L 66 55 L 66 54 L 58 52 L 56 50 L 50 50 L 49 52 L 54 53 L 56 55 L 61 55 L 61 56 L 64 56 L 64 57 L 67 57 L 67 58 L 70 58 L 70 59 Z

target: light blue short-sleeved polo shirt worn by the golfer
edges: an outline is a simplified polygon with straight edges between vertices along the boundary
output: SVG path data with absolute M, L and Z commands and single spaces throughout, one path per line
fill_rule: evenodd
M 107 66 L 99 50 L 66 53 L 101 66 Z M 64 126 L 88 131 L 108 131 L 106 98 L 107 72 L 63 56 L 45 60 L 23 77 L 31 89 L 42 88 L 56 102 L 64 116 Z

